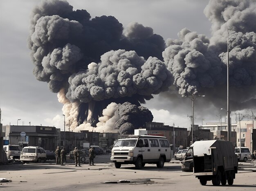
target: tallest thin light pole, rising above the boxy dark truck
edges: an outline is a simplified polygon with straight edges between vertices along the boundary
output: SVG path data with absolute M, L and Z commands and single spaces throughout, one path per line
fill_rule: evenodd
M 231 139 L 230 113 L 229 113 L 229 30 L 227 29 L 227 140 Z

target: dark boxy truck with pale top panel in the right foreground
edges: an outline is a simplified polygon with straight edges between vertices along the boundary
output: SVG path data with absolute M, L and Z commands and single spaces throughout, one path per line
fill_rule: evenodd
M 200 184 L 206 185 L 210 180 L 216 186 L 233 184 L 238 159 L 230 141 L 195 141 L 190 148 L 193 149 L 193 175 Z

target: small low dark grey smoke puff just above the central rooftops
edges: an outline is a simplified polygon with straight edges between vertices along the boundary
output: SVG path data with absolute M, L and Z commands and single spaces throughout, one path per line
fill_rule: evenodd
M 115 123 L 119 134 L 133 134 L 138 127 L 143 127 L 146 122 L 153 121 L 153 115 L 147 108 L 138 107 L 129 102 L 123 103 L 117 111 L 121 117 Z

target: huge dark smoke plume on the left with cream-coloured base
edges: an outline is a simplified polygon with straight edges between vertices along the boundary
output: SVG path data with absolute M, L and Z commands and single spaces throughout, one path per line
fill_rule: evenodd
M 152 28 L 133 22 L 124 31 L 116 18 L 91 19 L 66 1 L 33 10 L 28 44 L 36 79 L 58 92 L 72 129 L 95 127 L 112 102 L 138 107 L 173 83 L 162 62 L 165 42 Z

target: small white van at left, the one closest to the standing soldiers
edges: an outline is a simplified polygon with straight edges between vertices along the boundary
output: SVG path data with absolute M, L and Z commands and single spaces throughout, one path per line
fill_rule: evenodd
M 23 162 L 45 162 L 46 153 L 42 147 L 24 147 L 20 154 Z

